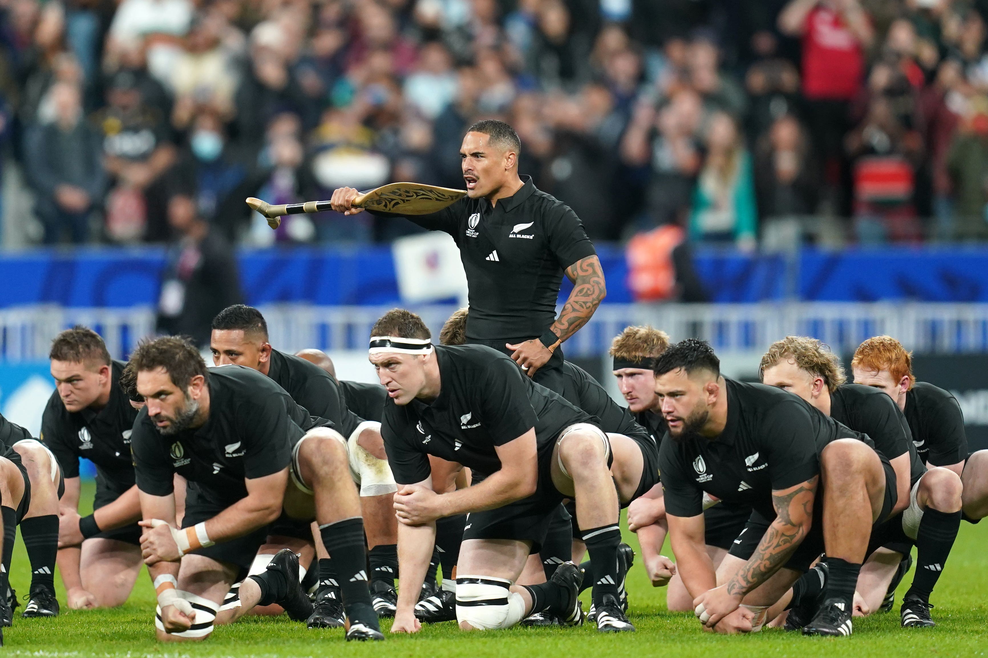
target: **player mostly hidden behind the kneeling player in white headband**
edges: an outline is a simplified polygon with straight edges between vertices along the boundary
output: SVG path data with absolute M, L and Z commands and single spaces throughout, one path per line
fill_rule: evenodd
M 443 345 L 461 345 L 465 342 L 466 319 L 469 309 L 459 309 L 447 320 L 440 331 L 440 343 Z M 631 500 L 635 500 L 646 492 L 651 491 L 658 482 L 658 443 L 654 436 L 635 422 L 627 409 L 614 402 L 607 391 L 604 390 L 597 380 L 590 376 L 585 370 L 569 361 L 563 361 L 563 391 L 562 397 L 567 402 L 595 416 L 600 421 L 600 427 L 609 434 L 620 434 L 626 436 L 637 444 L 641 459 L 641 471 L 638 476 L 638 488 L 632 495 Z M 621 444 L 622 446 L 624 444 Z M 628 454 L 622 461 L 637 459 L 636 456 Z M 435 476 L 435 468 L 433 469 Z M 586 548 L 578 539 L 580 537 L 579 528 L 576 528 L 576 539 L 574 536 L 574 524 L 572 516 L 565 507 L 560 506 L 556 515 L 552 518 L 549 532 L 546 533 L 546 542 L 553 538 L 553 530 L 561 525 L 563 542 L 559 546 L 543 550 L 539 559 L 538 554 L 531 554 L 526 569 L 519 578 L 519 584 L 535 585 L 545 582 L 552 577 L 553 572 L 565 561 L 570 561 L 575 553 L 582 555 Z M 437 531 L 438 532 L 438 531 Z M 575 545 L 575 547 L 574 547 Z M 565 555 L 566 559 L 559 557 Z M 618 596 L 622 609 L 627 612 L 627 593 L 624 589 L 624 580 L 627 569 L 630 568 L 634 552 L 626 544 L 620 545 L 621 571 L 620 582 L 618 584 Z M 591 567 L 590 562 L 581 564 L 582 569 Z M 444 567 L 445 568 L 445 567 Z M 585 582 L 584 586 L 590 583 Z M 420 603 L 420 606 L 422 604 Z M 596 610 L 591 607 L 590 619 L 594 619 Z M 551 625 L 557 623 L 552 617 L 543 613 L 535 613 L 522 621 L 525 625 Z

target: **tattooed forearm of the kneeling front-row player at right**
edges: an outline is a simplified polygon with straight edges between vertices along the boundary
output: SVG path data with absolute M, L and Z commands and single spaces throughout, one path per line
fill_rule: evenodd
M 772 504 L 778 516 L 755 553 L 727 582 L 728 594 L 747 594 L 764 583 L 803 541 L 813 517 L 817 479 L 813 477 L 788 489 L 786 493 L 773 492 Z

